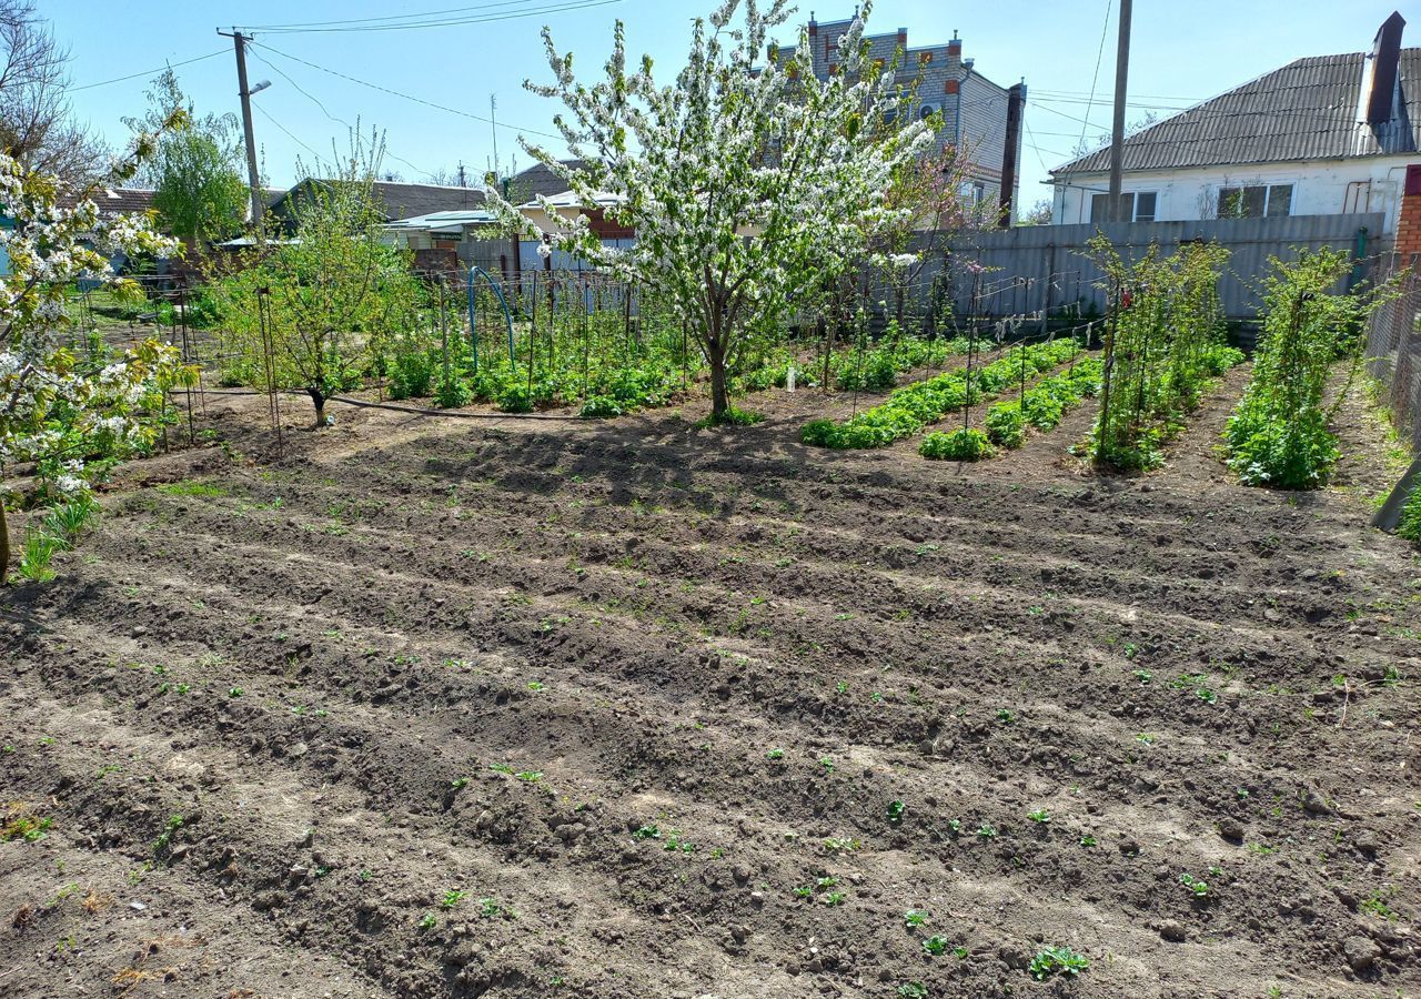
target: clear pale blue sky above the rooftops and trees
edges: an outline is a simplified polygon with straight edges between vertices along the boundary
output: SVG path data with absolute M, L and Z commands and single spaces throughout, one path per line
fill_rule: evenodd
M 217 26 L 290 24 L 340 18 L 389 17 L 429 10 L 466 9 L 443 18 L 522 14 L 549 7 L 573 7 L 595 0 L 144 0 L 115 6 L 111 0 L 44 0 L 40 10 L 72 53 L 72 102 L 78 115 L 112 141 L 126 129 L 124 115 L 144 107 L 146 75 L 92 87 L 115 77 L 178 67 L 183 90 L 198 111 L 236 111 L 236 71 L 232 41 Z M 502 162 L 529 158 L 517 146 L 520 128 L 550 132 L 553 102 L 523 90 L 524 78 L 547 80 L 539 30 L 551 24 L 560 48 L 571 48 L 583 72 L 600 68 L 610 50 L 612 21 L 627 21 L 628 48 L 649 53 L 664 78 L 681 65 L 689 21 L 713 0 L 614 0 L 600 6 L 506 17 L 480 24 L 399 31 L 315 31 L 277 34 L 254 31 L 284 55 L 254 48 L 249 60 L 252 82 L 271 87 L 253 98 L 257 145 L 263 168 L 276 183 L 294 179 L 297 156 L 330 156 L 331 141 L 342 146 L 347 125 L 357 118 L 385 131 L 387 168 L 406 180 L 426 172 L 452 169 L 460 159 L 472 176 L 482 176 L 493 155 L 489 95 L 497 97 L 497 151 Z M 1107 3 L 1111 18 L 1096 81 Z M 796 23 L 813 9 L 821 21 L 847 17 L 853 0 L 810 0 Z M 1172 108 L 1273 70 L 1300 55 L 1363 51 L 1395 0 L 1195 0 L 1194 3 L 1135 4 L 1131 54 L 1130 118 L 1154 107 L 1164 117 Z M 998 0 L 949 4 L 945 0 L 880 0 L 871 28 L 908 28 L 909 44 L 945 41 L 956 30 L 963 55 L 978 72 L 1007 85 L 1029 87 L 1022 200 L 1046 196 L 1046 169 L 1069 158 L 1081 136 L 1108 131 L 1108 95 L 1114 84 L 1114 0 Z M 1403 11 L 1404 14 L 1407 11 Z M 436 18 L 438 20 L 438 18 Z M 1421 18 L 1412 18 L 1403 44 L 1421 41 Z M 790 33 L 786 33 L 789 36 Z M 787 38 L 786 38 L 787 40 Z M 333 75 L 401 91 L 463 114 L 416 104 Z M 281 72 L 287 74 L 286 77 Z M 88 85 L 88 87 L 87 87 Z M 303 92 L 304 91 L 304 92 Z M 313 99 L 314 98 L 314 99 Z M 317 101 L 320 104 L 317 104 Z M 324 105 L 324 108 L 321 107 Z M 476 115 L 477 118 L 470 118 Z M 1088 119 L 1088 125 L 1081 119 Z M 304 145 L 303 145 L 304 144 Z M 1039 149 L 1039 152 L 1037 152 Z

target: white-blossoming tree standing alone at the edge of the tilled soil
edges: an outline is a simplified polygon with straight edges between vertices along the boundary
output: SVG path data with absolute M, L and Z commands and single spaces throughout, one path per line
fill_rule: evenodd
M 742 11 L 743 7 L 743 11 Z M 554 220 L 553 242 L 648 288 L 686 315 L 710 369 L 712 422 L 733 416 L 726 371 L 746 333 L 789 313 L 868 252 L 908 209 L 885 199 L 895 171 L 931 139 L 924 122 L 888 126 L 898 88 L 867 57 L 864 21 L 838 43 L 837 71 L 818 80 L 809 36 L 786 61 L 766 53 L 787 0 L 723 0 L 692 30 L 686 68 L 658 85 L 649 57 L 628 71 L 617 24 L 605 78 L 577 82 L 573 57 L 543 40 L 554 82 L 524 84 L 563 101 L 554 119 L 583 168 L 524 142 L 583 205 L 634 227 L 635 244 L 603 246 L 587 217 Z M 536 227 L 497 190 L 489 203 L 527 236 Z

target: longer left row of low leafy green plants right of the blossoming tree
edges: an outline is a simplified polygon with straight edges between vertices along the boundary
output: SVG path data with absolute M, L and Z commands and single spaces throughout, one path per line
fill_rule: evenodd
M 1074 340 L 1012 347 L 992 364 L 948 371 L 912 385 L 905 385 L 887 401 L 841 423 L 831 419 L 810 421 L 800 431 L 800 441 L 821 448 L 884 448 L 907 438 L 983 395 L 996 395 L 1022 377 L 1023 364 L 1032 374 L 1049 371 L 1069 360 L 1080 345 Z

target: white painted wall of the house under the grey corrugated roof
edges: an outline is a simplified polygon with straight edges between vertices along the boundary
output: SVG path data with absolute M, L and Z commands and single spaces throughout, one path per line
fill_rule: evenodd
M 1387 216 L 1384 237 L 1397 232 L 1401 188 L 1405 168 L 1421 163 L 1421 155 L 1358 156 L 1289 163 L 1250 163 L 1246 166 L 1206 166 L 1177 171 L 1130 171 L 1125 193 L 1152 190 L 1157 195 L 1157 222 L 1194 222 L 1216 217 L 1219 188 L 1258 183 L 1293 185 L 1289 215 L 1346 215 L 1383 212 Z M 1074 225 L 1090 222 L 1090 199 L 1110 186 L 1107 173 L 1059 175 L 1052 199 L 1052 222 Z

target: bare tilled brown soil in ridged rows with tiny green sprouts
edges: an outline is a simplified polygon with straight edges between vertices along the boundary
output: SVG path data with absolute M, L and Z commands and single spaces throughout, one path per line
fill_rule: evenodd
M 0 993 L 1410 995 L 1421 573 L 1245 378 L 1137 477 L 213 401 L 9 597 Z

